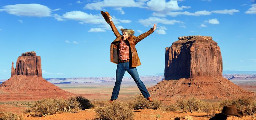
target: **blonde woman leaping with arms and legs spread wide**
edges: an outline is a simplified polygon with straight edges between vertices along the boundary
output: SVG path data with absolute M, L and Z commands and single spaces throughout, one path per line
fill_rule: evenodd
M 108 17 L 112 31 L 116 36 L 116 39 L 111 43 L 110 60 L 111 62 L 117 64 L 116 82 L 113 88 L 111 99 L 108 101 L 108 103 L 112 103 L 113 100 L 117 99 L 125 71 L 127 71 L 132 76 L 142 95 L 150 102 L 153 102 L 153 99 L 150 97 L 148 90 L 140 80 L 138 71 L 136 69 L 136 67 L 141 65 L 141 63 L 135 45 L 146 36 L 153 33 L 155 29 L 157 29 L 157 24 L 154 24 L 153 28 L 151 28 L 148 32 L 139 35 L 138 37 L 133 35 L 134 31 L 132 29 L 121 29 L 121 35 L 111 20 L 112 17 L 110 15 L 108 15 Z

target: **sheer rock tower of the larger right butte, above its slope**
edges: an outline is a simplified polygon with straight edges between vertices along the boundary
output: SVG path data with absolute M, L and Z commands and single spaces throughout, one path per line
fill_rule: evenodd
M 208 36 L 179 37 L 165 50 L 165 80 L 222 76 L 220 48 Z

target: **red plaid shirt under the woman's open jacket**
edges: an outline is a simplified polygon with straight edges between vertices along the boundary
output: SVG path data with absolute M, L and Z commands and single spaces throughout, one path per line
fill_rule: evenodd
M 119 60 L 127 60 L 130 59 L 130 51 L 129 51 L 129 42 L 128 40 L 124 41 L 121 40 L 119 43 L 119 49 L 118 49 L 118 59 Z

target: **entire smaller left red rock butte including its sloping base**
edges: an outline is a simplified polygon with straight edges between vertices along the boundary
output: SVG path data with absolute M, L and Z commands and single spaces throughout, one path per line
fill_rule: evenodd
M 37 100 L 74 96 L 42 78 L 41 57 L 36 52 L 22 53 L 11 68 L 11 78 L 0 85 L 0 101 Z

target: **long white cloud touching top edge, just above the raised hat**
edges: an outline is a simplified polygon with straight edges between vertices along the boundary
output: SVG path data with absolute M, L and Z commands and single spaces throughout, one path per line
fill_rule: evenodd
M 112 8 L 123 8 L 123 7 L 142 7 L 144 3 L 134 0 L 103 0 L 100 2 L 88 3 L 85 5 L 84 9 L 90 10 L 104 10 L 105 7 Z

